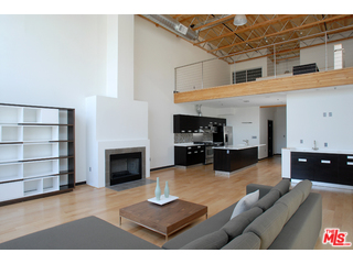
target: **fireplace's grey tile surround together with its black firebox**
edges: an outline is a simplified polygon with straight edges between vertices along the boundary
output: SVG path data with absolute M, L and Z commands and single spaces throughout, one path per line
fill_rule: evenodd
M 106 186 L 146 178 L 146 148 L 106 150 Z

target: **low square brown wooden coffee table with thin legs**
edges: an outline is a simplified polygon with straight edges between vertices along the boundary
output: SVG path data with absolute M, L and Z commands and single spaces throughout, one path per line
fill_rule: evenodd
M 119 224 L 121 226 L 121 218 L 125 218 L 165 235 L 168 240 L 170 234 L 202 216 L 206 216 L 207 219 L 207 207 L 190 201 L 178 199 L 163 206 L 141 201 L 119 210 Z

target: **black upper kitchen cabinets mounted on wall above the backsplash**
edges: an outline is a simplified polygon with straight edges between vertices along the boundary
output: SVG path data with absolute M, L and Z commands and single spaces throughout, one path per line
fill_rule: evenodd
M 199 133 L 207 127 L 226 125 L 225 119 L 174 114 L 174 133 Z

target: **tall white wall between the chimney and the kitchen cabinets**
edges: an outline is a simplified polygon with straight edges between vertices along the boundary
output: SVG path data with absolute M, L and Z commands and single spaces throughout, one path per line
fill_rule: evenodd
M 174 105 L 174 68 L 211 58 L 199 47 L 135 15 L 135 99 L 148 102 L 151 168 L 174 164 L 173 114 L 194 114 L 194 105 Z M 196 103 L 195 103 L 196 105 Z M 216 110 L 202 107 L 203 116 Z

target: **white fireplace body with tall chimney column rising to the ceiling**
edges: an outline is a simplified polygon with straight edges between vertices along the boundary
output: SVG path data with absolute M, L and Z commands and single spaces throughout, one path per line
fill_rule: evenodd
M 86 182 L 98 188 L 106 186 L 106 150 L 145 147 L 150 177 L 148 103 L 133 100 L 133 15 L 107 15 L 106 34 L 106 96 L 86 98 Z

